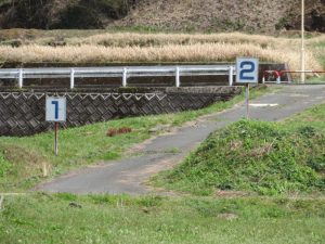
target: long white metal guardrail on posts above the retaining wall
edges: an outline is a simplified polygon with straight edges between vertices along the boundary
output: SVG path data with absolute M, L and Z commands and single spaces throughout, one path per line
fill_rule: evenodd
M 121 86 L 128 86 L 129 77 L 174 76 L 176 87 L 181 86 L 181 76 L 227 75 L 229 85 L 233 86 L 234 65 L 182 65 L 182 66 L 125 66 L 125 67 L 55 67 L 55 68 L 0 68 L 0 79 L 16 79 L 20 88 L 24 79 L 69 78 L 70 89 L 75 88 L 76 78 L 121 77 Z

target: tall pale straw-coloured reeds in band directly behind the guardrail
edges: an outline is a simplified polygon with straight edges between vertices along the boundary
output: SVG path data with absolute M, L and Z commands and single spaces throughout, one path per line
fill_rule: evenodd
M 261 61 L 287 63 L 294 69 L 299 67 L 299 51 L 284 51 L 261 48 L 255 44 L 170 44 L 162 47 L 0 47 L 1 62 L 234 62 L 236 56 L 258 56 Z M 311 69 L 320 68 L 311 52 L 307 55 Z

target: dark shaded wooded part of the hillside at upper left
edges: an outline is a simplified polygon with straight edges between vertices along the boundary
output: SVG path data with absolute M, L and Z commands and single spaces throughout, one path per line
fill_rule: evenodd
M 128 10 L 128 0 L 0 0 L 0 27 L 104 28 Z

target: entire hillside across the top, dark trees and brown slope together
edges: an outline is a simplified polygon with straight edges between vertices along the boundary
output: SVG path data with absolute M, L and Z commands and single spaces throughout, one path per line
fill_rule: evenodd
M 299 24 L 299 0 L 0 0 L 1 28 L 274 33 Z M 307 1 L 307 29 L 325 31 L 324 0 Z

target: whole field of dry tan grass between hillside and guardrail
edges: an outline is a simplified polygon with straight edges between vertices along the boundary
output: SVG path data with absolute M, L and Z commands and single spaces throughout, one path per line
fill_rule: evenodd
M 16 40 L 16 39 L 14 39 Z M 307 40 L 309 69 L 321 69 L 325 35 Z M 0 62 L 234 62 L 236 56 L 257 56 L 264 62 L 287 63 L 299 69 L 299 38 L 233 34 L 101 33 L 84 37 L 40 35 L 0 46 Z

